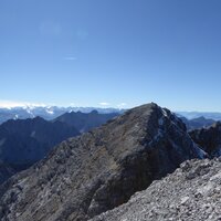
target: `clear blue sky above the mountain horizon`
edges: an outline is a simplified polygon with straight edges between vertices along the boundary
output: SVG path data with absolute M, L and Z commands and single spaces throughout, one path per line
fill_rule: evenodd
M 220 0 L 1 0 L 0 104 L 221 112 Z

